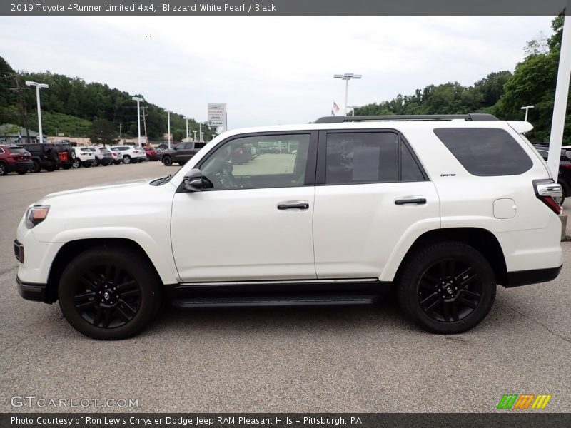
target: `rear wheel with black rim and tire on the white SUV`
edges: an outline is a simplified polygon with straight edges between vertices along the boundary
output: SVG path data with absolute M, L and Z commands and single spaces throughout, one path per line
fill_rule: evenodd
M 435 243 L 401 267 L 398 300 L 406 315 L 428 332 L 465 332 L 482 321 L 495 300 L 495 275 L 477 250 Z

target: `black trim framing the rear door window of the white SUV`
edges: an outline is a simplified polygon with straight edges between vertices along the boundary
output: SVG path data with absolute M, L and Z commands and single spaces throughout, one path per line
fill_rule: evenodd
M 423 175 L 423 180 L 414 180 L 414 181 L 402 181 L 402 161 L 401 161 L 401 151 L 400 151 L 400 144 L 398 148 L 398 180 L 397 181 L 353 181 L 352 183 L 326 183 L 326 173 L 327 173 L 327 136 L 328 134 L 338 134 L 338 133 L 394 133 L 398 136 L 400 143 L 405 145 L 405 148 L 408 149 L 408 152 L 413 157 L 413 161 L 418 166 L 420 173 Z M 418 156 L 416 156 L 415 151 L 412 147 L 410 147 L 410 143 L 408 143 L 403 133 L 398 131 L 394 128 L 365 128 L 365 129 L 325 129 L 319 131 L 319 139 L 318 139 L 318 162 L 317 162 L 317 170 L 315 172 L 315 185 L 363 185 L 363 184 L 383 184 L 383 183 L 420 183 L 420 181 L 429 181 L 428 175 L 423 167 L 423 164 L 420 163 Z

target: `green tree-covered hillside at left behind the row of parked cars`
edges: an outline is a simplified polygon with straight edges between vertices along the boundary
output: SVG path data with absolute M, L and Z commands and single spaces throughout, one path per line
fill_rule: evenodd
M 31 129 L 37 128 L 36 92 L 26 81 L 47 83 L 49 90 L 41 91 L 41 118 L 44 133 L 50 136 L 98 136 L 98 139 L 137 136 L 137 106 L 133 96 L 103 83 L 86 83 L 79 77 L 61 74 L 16 72 L 0 57 L 0 123 L 16 123 Z M 167 132 L 165 109 L 143 102 L 149 138 L 162 140 Z M 198 122 L 189 120 L 188 126 L 198 129 Z M 216 129 L 203 123 L 206 140 L 213 138 Z M 186 120 L 171 113 L 171 133 L 175 141 L 186 137 Z M 141 118 L 141 135 L 143 119 Z

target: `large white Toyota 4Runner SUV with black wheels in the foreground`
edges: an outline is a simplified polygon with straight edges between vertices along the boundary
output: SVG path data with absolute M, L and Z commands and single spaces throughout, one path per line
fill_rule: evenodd
M 420 327 L 463 332 L 496 285 L 561 270 L 561 187 L 531 128 L 475 114 L 229 131 L 172 177 L 31 205 L 14 243 L 19 292 L 59 300 L 98 339 L 141 331 L 163 297 L 358 305 L 394 288 Z

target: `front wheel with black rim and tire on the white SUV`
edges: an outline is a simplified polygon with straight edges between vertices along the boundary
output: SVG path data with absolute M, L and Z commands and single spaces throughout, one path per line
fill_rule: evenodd
M 67 265 L 58 287 L 59 306 L 77 331 L 98 340 L 141 332 L 161 305 L 160 281 L 130 248 L 86 250 Z

